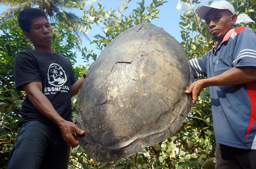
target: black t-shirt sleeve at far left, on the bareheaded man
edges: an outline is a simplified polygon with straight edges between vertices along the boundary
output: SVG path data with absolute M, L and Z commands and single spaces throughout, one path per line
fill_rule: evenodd
M 24 90 L 21 86 L 22 84 L 42 81 L 38 64 L 33 56 L 25 52 L 20 52 L 16 55 L 14 61 L 14 79 L 15 88 L 20 91 Z

